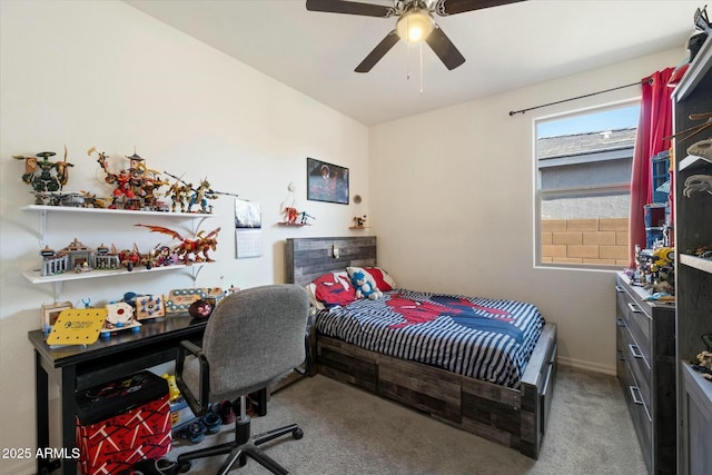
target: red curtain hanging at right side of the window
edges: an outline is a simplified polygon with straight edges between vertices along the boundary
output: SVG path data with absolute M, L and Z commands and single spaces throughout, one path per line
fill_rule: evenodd
M 635 246 L 645 248 L 644 206 L 652 201 L 652 157 L 670 149 L 672 135 L 672 89 L 668 81 L 674 68 L 656 71 L 643 78 L 641 86 L 641 115 L 637 119 L 635 149 L 633 152 L 633 170 L 631 174 L 631 212 L 629 222 L 630 261 L 635 267 Z M 672 187 L 671 187 L 672 192 Z

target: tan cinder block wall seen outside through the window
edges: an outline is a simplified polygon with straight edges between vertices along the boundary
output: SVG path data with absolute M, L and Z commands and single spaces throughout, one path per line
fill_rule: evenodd
M 542 263 L 627 266 L 627 218 L 543 219 Z

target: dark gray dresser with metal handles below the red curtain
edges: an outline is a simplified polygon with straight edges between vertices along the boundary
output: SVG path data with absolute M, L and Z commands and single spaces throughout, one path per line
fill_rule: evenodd
M 647 472 L 676 472 L 675 307 L 616 274 L 616 372 Z

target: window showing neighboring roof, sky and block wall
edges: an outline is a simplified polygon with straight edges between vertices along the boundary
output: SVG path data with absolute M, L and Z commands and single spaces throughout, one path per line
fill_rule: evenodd
M 536 121 L 536 265 L 620 269 L 640 106 Z

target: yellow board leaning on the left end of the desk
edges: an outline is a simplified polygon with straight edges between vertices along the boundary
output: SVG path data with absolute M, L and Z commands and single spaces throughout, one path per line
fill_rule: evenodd
M 47 337 L 48 345 L 91 345 L 101 334 L 106 308 L 70 308 L 62 310 Z

